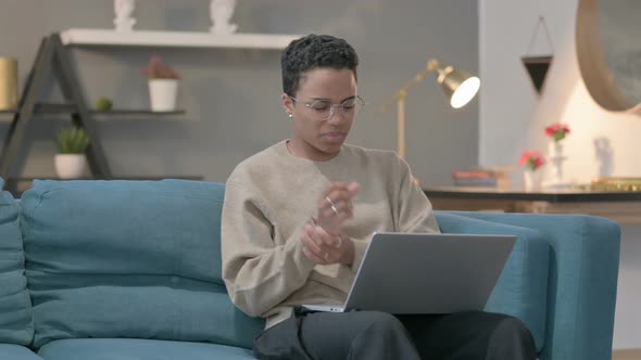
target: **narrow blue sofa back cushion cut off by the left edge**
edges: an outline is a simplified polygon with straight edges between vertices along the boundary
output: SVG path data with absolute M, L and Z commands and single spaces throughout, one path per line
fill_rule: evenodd
M 3 181 L 0 179 L 0 189 Z M 28 345 L 34 338 L 33 313 L 24 273 L 18 207 L 0 192 L 0 343 Z M 2 358 L 2 357 L 0 357 Z

